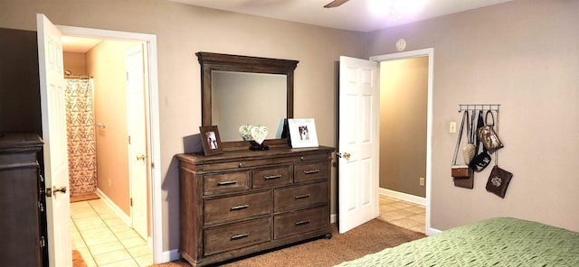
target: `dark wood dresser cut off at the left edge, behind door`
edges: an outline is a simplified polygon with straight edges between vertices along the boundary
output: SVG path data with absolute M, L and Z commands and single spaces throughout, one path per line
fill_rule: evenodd
M 0 134 L 0 262 L 3 266 L 46 266 L 41 219 L 44 202 L 37 134 Z

